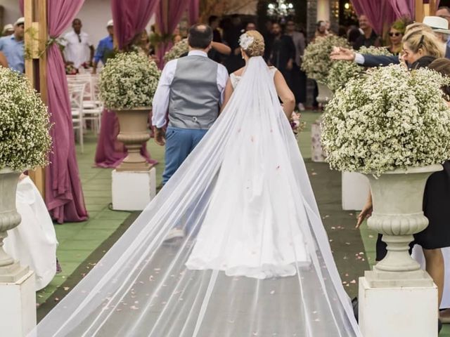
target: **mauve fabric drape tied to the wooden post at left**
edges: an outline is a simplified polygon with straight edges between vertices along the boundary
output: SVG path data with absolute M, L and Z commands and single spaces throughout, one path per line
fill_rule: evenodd
M 84 0 L 47 0 L 49 37 L 58 37 L 70 25 Z M 51 138 L 53 151 L 51 164 L 46 167 L 46 204 L 58 223 L 83 221 L 88 218 L 82 185 L 79 180 L 75 137 L 68 84 L 63 58 L 57 44 L 47 51 L 47 92 L 50 120 L 53 123 Z

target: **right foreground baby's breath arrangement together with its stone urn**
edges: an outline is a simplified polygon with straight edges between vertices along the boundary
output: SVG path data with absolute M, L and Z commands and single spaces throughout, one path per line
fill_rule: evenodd
M 433 284 L 408 250 L 413 234 L 428 226 L 428 177 L 450 159 L 450 110 L 441 89 L 449 85 L 449 78 L 432 70 L 390 65 L 350 80 L 326 107 L 327 161 L 332 169 L 366 173 L 373 200 L 368 227 L 387 244 L 386 257 L 366 272 L 369 284 Z

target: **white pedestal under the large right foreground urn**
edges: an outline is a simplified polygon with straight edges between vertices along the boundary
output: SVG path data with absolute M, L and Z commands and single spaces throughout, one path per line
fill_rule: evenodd
M 364 337 L 437 337 L 437 287 L 374 287 L 360 277 L 359 326 Z

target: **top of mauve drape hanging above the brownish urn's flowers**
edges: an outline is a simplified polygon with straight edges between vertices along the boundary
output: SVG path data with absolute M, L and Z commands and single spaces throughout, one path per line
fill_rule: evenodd
M 111 0 L 114 33 L 119 49 L 146 28 L 160 0 Z

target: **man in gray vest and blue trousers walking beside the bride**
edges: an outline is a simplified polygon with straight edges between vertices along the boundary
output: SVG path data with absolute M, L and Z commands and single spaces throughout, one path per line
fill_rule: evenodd
M 192 26 L 188 43 L 187 56 L 165 65 L 153 98 L 155 142 L 166 145 L 162 184 L 167 183 L 214 124 L 228 80 L 226 68 L 207 57 L 212 44 L 210 26 Z M 169 124 L 165 130 L 167 112 Z

